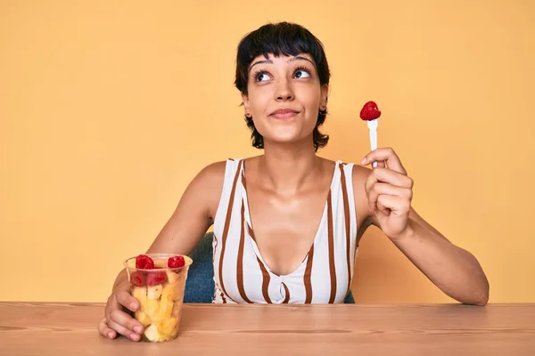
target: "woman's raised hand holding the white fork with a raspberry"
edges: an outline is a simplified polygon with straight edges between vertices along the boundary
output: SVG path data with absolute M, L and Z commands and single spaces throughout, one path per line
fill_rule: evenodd
M 365 183 L 368 205 L 383 233 L 397 239 L 407 231 L 414 182 L 391 148 L 373 150 L 360 163 L 366 166 L 374 161 L 377 166 Z

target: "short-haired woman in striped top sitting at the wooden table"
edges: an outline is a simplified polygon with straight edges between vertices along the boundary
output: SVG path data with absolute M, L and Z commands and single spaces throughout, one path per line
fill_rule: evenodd
M 416 214 L 394 150 L 368 153 L 363 166 L 317 156 L 329 139 L 319 131 L 329 77 L 322 44 L 299 25 L 245 36 L 235 86 L 264 154 L 202 169 L 148 253 L 189 254 L 214 225 L 215 303 L 342 303 L 359 239 L 374 225 L 445 294 L 486 304 L 480 264 Z M 121 271 L 100 332 L 138 341 L 143 326 L 125 312 L 138 307 Z

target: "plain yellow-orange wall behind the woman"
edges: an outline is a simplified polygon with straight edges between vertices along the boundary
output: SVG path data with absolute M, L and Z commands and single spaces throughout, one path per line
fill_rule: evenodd
M 309 28 L 333 72 L 320 155 L 379 145 L 414 206 L 480 260 L 491 303 L 535 302 L 535 2 L 0 2 L 0 300 L 103 302 L 203 166 L 259 154 L 235 49 L 268 21 Z M 453 302 L 380 231 L 358 303 Z

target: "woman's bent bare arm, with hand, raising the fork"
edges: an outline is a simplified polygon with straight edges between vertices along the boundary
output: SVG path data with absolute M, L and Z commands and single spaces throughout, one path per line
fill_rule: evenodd
M 395 152 L 379 149 L 367 158 L 365 164 L 381 164 L 374 170 L 362 166 L 354 170 L 356 201 L 360 199 L 358 207 L 366 210 L 363 228 L 373 224 L 381 229 L 446 295 L 461 303 L 488 303 L 489 281 L 477 259 L 452 244 L 410 205 L 413 183 Z

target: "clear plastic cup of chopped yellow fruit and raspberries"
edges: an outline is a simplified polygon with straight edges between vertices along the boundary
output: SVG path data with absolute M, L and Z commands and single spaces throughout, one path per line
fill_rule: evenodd
M 134 317 L 144 325 L 142 340 L 163 342 L 178 336 L 180 315 L 184 300 L 185 280 L 193 260 L 182 255 L 185 264 L 180 268 L 168 268 L 172 254 L 145 254 L 154 261 L 154 269 L 136 268 L 136 257 L 124 262 L 132 295 L 140 308 Z

